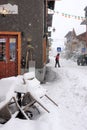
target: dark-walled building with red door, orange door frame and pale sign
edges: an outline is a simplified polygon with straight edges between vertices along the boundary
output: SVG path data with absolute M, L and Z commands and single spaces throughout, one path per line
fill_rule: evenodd
M 0 0 L 0 78 L 21 74 L 21 58 L 26 59 L 31 45 L 36 78 L 44 80 L 47 8 L 53 9 L 54 3 L 52 0 Z

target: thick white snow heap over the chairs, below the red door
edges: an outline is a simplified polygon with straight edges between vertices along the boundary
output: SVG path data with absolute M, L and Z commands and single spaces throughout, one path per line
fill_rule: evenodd
M 35 78 L 34 72 L 17 77 L 3 78 L 0 80 L 0 108 L 16 96 L 15 92 L 30 92 L 34 98 L 39 100 L 40 97 L 46 94 L 46 89 Z

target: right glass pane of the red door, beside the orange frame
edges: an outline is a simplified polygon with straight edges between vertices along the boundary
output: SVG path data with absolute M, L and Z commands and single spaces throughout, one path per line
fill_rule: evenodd
M 15 61 L 16 59 L 16 38 L 10 38 L 10 61 Z

